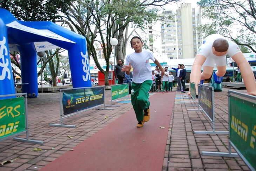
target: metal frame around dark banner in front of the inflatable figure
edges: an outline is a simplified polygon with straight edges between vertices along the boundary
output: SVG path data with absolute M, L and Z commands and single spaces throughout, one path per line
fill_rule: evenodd
M 212 122 L 212 128 L 213 131 L 194 131 L 194 134 L 228 134 L 228 131 L 215 131 L 215 115 L 214 115 L 214 88 L 212 86 L 206 86 L 203 84 L 197 84 L 198 87 L 198 108 L 200 108 L 200 110 L 197 109 L 190 109 L 188 111 L 203 111 L 204 114 L 206 114 L 206 116 L 210 119 L 210 121 Z M 211 89 L 211 112 L 213 114 L 213 119 L 211 119 L 211 117 L 207 114 L 207 112 L 203 109 L 203 107 L 200 105 L 200 97 L 201 97 L 201 91 L 199 87 L 203 87 L 204 89 Z

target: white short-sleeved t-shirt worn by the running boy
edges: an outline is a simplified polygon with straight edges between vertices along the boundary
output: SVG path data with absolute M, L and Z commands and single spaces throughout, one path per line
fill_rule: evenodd
M 143 83 L 146 80 L 152 80 L 152 70 L 150 68 L 149 59 L 155 62 L 153 53 L 143 50 L 140 53 L 132 53 L 126 57 L 126 65 L 133 67 L 133 82 Z

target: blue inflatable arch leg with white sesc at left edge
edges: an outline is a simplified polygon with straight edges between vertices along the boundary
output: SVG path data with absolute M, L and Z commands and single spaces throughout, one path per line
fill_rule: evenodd
M 15 94 L 5 23 L 0 19 L 0 95 Z M 15 96 L 14 96 L 15 97 Z M 12 98 L 12 97 L 2 97 Z

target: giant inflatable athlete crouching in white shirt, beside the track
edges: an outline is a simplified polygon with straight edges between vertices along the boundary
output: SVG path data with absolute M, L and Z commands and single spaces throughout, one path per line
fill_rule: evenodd
M 247 93 L 256 96 L 256 82 L 248 61 L 236 43 L 226 40 L 220 34 L 207 36 L 203 41 L 203 45 L 197 50 L 191 69 L 190 81 L 196 83 L 197 89 L 198 83 L 202 83 L 204 79 L 211 77 L 215 63 L 217 71 L 213 74 L 214 82 L 220 84 L 222 77 L 226 73 L 226 55 L 231 56 L 239 65 Z M 203 72 L 201 73 L 202 65 Z M 190 92 L 188 94 L 190 95 Z

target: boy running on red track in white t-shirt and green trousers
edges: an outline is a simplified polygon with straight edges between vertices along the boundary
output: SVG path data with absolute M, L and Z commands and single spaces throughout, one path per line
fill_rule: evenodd
M 142 51 L 143 42 L 140 37 L 134 36 L 130 43 L 135 52 L 126 57 L 126 65 L 122 68 L 122 71 L 129 75 L 130 69 L 133 67 L 131 100 L 138 121 L 137 127 L 140 128 L 150 118 L 148 99 L 153 81 L 149 59 L 154 61 L 161 69 L 162 67 L 151 52 Z M 163 74 L 164 70 L 162 70 L 161 75 L 163 76 Z

